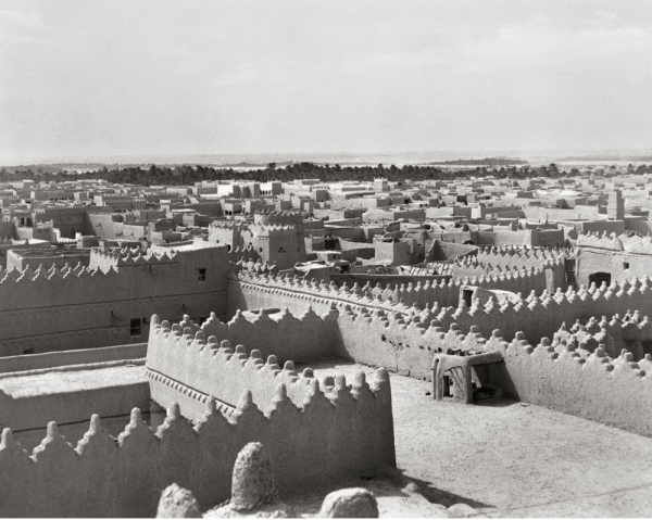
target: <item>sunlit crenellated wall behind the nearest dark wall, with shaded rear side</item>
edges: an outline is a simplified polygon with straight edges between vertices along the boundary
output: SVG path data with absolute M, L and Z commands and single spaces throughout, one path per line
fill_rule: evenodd
M 239 315 L 228 325 L 211 317 L 199 327 L 187 318 L 180 324 L 161 322 L 154 315 L 147 354 L 152 398 L 167 406 L 171 395 L 164 388 L 166 382 L 185 383 L 201 394 L 197 403 L 186 403 L 186 409 L 180 403 L 185 415 L 197 418 L 201 413 L 201 407 L 198 408 L 201 401 L 216 398 L 233 407 L 244 389 L 251 390 L 254 403 L 265 409 L 276 386 L 283 382 L 292 402 L 300 405 L 314 378 L 310 369 L 299 376 L 288 354 L 296 353 L 299 359 L 319 359 L 337 354 L 334 319 L 329 316 L 319 318 L 310 310 L 300 319 L 288 313 L 277 321 L 262 316 L 266 315 L 261 314 L 259 319 L 250 322 Z M 241 345 L 234 350 L 229 339 L 234 343 L 251 340 L 248 344 L 251 352 L 247 354 Z M 278 357 L 272 354 L 275 346 L 279 348 Z M 285 359 L 283 370 L 278 365 L 279 357 Z M 162 378 L 156 379 L 156 376 Z

